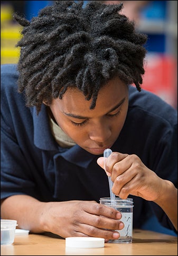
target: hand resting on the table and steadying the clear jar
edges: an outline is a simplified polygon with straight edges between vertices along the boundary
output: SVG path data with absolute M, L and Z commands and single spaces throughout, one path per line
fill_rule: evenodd
M 65 201 L 45 203 L 45 211 L 41 216 L 44 231 L 68 236 L 103 237 L 118 239 L 119 230 L 124 224 L 119 220 L 121 214 L 96 201 Z M 110 229 L 110 230 L 108 230 Z

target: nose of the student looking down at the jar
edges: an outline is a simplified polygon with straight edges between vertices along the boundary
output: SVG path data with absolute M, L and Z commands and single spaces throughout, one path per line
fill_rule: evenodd
M 106 142 L 111 136 L 110 126 L 105 122 L 97 122 L 90 127 L 89 137 L 95 142 Z

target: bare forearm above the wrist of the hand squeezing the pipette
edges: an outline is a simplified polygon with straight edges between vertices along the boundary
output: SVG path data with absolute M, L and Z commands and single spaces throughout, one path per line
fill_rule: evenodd
M 160 198 L 154 202 L 164 210 L 177 230 L 177 189 L 174 184 L 170 181 L 164 180 Z

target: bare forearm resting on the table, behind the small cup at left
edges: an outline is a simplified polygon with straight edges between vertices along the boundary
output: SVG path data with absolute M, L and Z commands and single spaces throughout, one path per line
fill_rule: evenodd
M 45 204 L 26 195 L 11 196 L 1 203 L 1 218 L 16 219 L 18 228 L 42 233 L 41 216 Z

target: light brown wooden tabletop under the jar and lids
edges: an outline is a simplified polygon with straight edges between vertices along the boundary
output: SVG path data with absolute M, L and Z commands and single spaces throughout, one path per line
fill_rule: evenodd
M 16 235 L 1 245 L 1 255 L 177 255 L 177 237 L 134 229 L 133 243 L 105 243 L 104 248 L 65 248 L 65 240 L 39 234 Z

